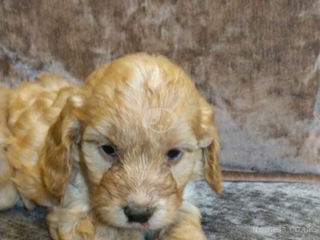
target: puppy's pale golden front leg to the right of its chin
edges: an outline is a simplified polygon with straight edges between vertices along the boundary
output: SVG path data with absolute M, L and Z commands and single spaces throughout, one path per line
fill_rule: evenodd
M 169 229 L 163 230 L 158 240 L 207 240 L 201 229 L 199 209 L 190 203 L 182 203 L 177 222 Z

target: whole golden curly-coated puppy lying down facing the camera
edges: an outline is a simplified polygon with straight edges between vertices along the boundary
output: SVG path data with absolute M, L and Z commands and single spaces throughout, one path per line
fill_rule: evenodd
M 193 180 L 221 189 L 211 106 L 163 56 L 127 55 L 83 86 L 0 88 L 0 208 L 49 208 L 54 239 L 206 239 Z

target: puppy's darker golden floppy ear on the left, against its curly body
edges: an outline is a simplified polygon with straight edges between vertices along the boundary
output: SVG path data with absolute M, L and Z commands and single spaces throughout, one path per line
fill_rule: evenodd
M 48 130 L 41 151 L 42 177 L 49 192 L 61 197 L 71 173 L 71 151 L 78 143 L 79 123 L 67 101 L 56 122 Z

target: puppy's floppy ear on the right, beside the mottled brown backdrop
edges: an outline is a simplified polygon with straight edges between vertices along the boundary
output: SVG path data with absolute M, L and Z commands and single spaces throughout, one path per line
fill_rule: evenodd
M 222 188 L 219 136 L 212 108 L 204 99 L 201 100 L 200 128 L 199 146 L 203 149 L 203 174 L 210 187 L 219 194 Z

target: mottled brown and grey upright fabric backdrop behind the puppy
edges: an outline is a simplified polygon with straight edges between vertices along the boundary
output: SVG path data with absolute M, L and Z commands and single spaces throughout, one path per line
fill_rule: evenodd
M 181 65 L 216 107 L 224 169 L 320 173 L 319 1 L 0 1 L 0 79 L 84 81 L 127 53 Z

